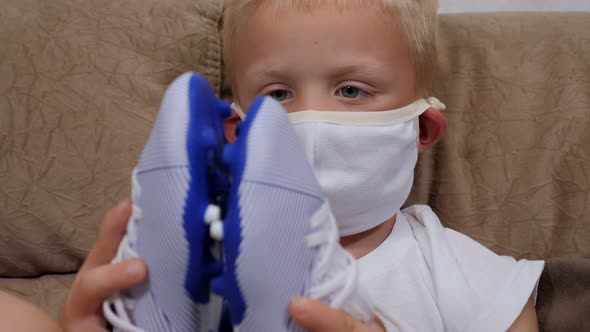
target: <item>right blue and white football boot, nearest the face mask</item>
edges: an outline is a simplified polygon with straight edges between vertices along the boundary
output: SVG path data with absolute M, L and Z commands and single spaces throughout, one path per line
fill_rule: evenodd
M 356 261 L 339 244 L 333 214 L 283 107 L 251 105 L 223 160 L 231 189 L 211 235 L 223 245 L 224 272 L 213 291 L 229 303 L 240 332 L 303 331 L 290 319 L 296 296 L 315 298 L 370 322 Z

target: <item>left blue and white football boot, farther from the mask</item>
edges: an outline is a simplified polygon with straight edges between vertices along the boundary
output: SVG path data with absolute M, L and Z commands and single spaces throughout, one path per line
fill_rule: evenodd
M 166 91 L 132 176 L 132 215 L 115 262 L 141 257 L 141 287 L 105 301 L 115 331 L 217 331 L 222 301 L 210 295 L 222 271 L 209 226 L 221 219 L 223 119 L 230 114 L 193 73 Z M 219 249 L 218 249 L 219 250 Z

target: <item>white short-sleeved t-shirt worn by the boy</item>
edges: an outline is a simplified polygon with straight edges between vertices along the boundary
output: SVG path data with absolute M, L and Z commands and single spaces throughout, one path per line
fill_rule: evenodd
M 387 331 L 506 331 L 536 289 L 543 261 L 498 256 L 444 228 L 430 207 L 398 213 L 389 237 L 359 260 Z

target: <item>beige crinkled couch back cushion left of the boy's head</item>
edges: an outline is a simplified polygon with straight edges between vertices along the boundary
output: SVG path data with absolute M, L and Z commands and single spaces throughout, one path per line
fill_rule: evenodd
M 129 175 L 164 88 L 219 90 L 217 0 L 0 6 L 0 276 L 75 271 Z

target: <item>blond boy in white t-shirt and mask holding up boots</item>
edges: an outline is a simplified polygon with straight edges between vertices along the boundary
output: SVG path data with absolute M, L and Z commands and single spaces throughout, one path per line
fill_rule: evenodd
M 434 72 L 436 10 L 433 0 L 230 1 L 224 40 L 234 100 L 245 109 L 254 97 L 269 95 L 293 114 L 310 109 L 375 113 L 410 105 L 424 95 Z M 228 120 L 230 141 L 238 121 L 238 115 Z M 436 143 L 446 126 L 435 108 L 422 113 L 417 149 Z M 305 144 L 306 136 L 300 138 Z M 396 144 L 366 142 L 367 151 Z M 356 154 L 340 157 L 346 166 L 362 159 Z M 383 169 L 395 162 L 392 157 L 367 161 Z M 409 160 L 412 172 L 401 174 L 406 182 L 415 163 Z M 325 176 L 317 175 L 324 188 Z M 338 195 L 355 193 L 355 188 L 358 196 L 352 199 Z M 327 191 L 331 189 L 326 185 Z M 313 331 L 537 330 L 533 301 L 542 263 L 498 258 L 442 228 L 424 207 L 399 212 L 397 202 L 407 196 L 401 189 L 392 192 L 397 198 L 393 210 L 381 209 L 390 211 L 386 218 L 370 212 L 366 215 L 373 219 L 348 218 L 356 203 L 373 197 L 371 189 L 377 188 L 363 187 L 359 181 L 336 189 L 327 196 L 337 218 L 355 221 L 339 225 L 341 244 L 359 259 L 380 322 L 363 325 L 322 303 L 296 299 L 291 314 L 301 325 Z M 104 328 L 102 299 L 145 277 L 145 267 L 137 260 L 108 264 L 128 214 L 129 203 L 124 202 L 107 215 L 64 307 L 66 330 Z

